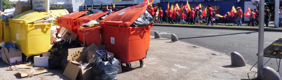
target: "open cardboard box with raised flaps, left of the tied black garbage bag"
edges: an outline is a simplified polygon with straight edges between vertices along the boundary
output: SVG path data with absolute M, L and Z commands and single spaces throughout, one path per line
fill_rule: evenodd
M 68 49 L 69 63 L 67 64 L 63 75 L 71 80 L 76 80 L 77 78 L 83 80 L 92 80 L 92 66 L 94 60 L 87 60 L 87 57 L 89 57 L 87 56 L 87 52 L 94 50 L 96 47 L 97 46 L 92 43 L 88 47 Z M 81 65 L 79 62 L 86 62 L 87 64 Z

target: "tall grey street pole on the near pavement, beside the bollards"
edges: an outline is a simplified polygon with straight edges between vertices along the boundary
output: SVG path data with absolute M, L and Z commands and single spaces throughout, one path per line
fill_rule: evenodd
M 263 40 L 264 40 L 264 0 L 259 2 L 259 29 L 258 29 L 258 79 L 262 79 L 263 67 Z

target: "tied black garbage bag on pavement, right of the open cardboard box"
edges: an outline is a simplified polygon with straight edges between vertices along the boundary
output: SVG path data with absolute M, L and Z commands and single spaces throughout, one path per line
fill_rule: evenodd
M 93 75 L 94 80 L 117 80 L 120 63 L 115 58 L 110 58 L 108 54 L 94 60 Z

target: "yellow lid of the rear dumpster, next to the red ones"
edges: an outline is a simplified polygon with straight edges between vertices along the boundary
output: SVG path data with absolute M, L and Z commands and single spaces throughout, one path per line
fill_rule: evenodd
M 62 16 L 62 15 L 69 14 L 69 13 L 68 13 L 68 10 L 66 10 L 66 9 L 50 10 L 49 13 L 50 13 L 54 18 L 60 17 L 60 16 Z

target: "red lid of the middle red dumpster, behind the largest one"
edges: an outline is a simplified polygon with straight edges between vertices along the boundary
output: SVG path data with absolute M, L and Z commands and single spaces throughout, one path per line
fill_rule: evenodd
M 108 11 L 105 11 L 105 12 L 100 12 L 100 13 L 94 13 L 94 14 L 91 14 L 91 15 L 87 15 L 87 16 L 83 16 L 83 17 L 80 17 L 80 18 L 77 18 L 77 21 L 79 22 L 89 22 L 91 20 L 95 20 L 95 19 L 98 19 L 104 15 L 106 15 L 107 13 L 109 13 Z

